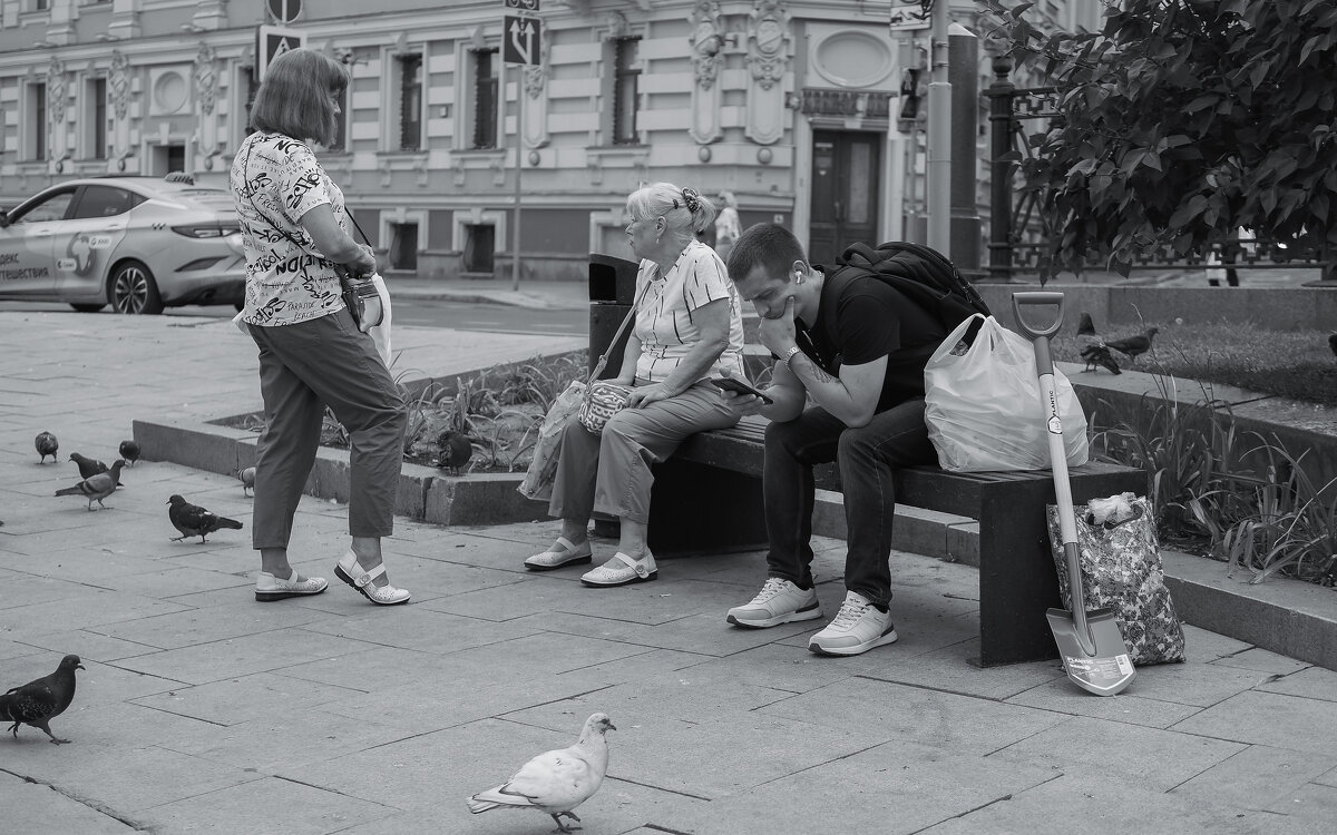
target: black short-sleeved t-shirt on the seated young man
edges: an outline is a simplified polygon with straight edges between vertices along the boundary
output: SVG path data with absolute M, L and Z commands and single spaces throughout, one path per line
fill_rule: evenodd
M 876 275 L 828 273 L 817 323 L 804 326 L 796 322 L 798 346 L 829 374 L 886 357 L 878 413 L 924 397 L 924 365 L 947 338 L 936 317 Z

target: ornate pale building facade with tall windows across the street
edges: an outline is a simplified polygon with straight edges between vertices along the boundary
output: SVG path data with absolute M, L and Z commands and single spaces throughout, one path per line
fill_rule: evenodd
M 1098 21 L 1099 0 L 1046 3 Z M 912 234 L 893 5 L 0 0 L 0 204 L 102 174 L 226 186 L 261 67 L 305 43 L 350 71 L 321 158 L 392 274 L 509 277 L 519 227 L 521 278 L 583 278 L 628 255 L 626 195 L 654 180 L 731 191 L 743 226 L 790 224 L 824 262 Z

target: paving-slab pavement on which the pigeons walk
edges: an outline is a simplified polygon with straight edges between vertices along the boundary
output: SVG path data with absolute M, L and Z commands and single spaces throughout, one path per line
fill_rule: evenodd
M 433 374 L 555 349 L 396 339 Z M 586 835 L 1298 834 L 1337 816 L 1337 673 L 1193 627 L 1189 663 L 1111 699 L 1056 663 L 980 669 L 975 569 L 916 554 L 892 557 L 901 640 L 853 659 L 806 651 L 824 621 L 725 623 L 759 553 L 663 560 L 656 582 L 595 591 L 580 569 L 523 569 L 551 524 L 401 520 L 388 566 L 409 605 L 341 584 L 258 604 L 238 481 L 146 450 L 107 510 L 52 496 L 78 481 L 70 452 L 110 462 L 135 418 L 255 409 L 243 337 L 193 317 L 0 313 L 0 685 L 70 652 L 87 668 L 53 721 L 71 744 L 0 735 L 4 832 L 548 832 L 535 812 L 471 816 L 464 798 L 594 711 L 618 731 L 578 810 Z M 57 464 L 37 464 L 43 429 Z M 172 542 L 171 493 L 247 529 Z M 302 501 L 301 570 L 332 577 L 345 517 Z M 842 542 L 818 550 L 834 613 Z

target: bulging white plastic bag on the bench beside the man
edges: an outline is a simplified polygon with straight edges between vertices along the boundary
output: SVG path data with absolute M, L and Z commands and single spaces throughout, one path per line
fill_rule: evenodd
M 975 343 L 953 353 L 976 319 Z M 1063 448 L 1068 466 L 1087 462 L 1087 422 L 1072 383 L 1058 369 Z M 928 437 L 939 465 L 956 473 L 1042 470 L 1050 466 L 1035 349 L 1021 335 L 976 314 L 961 322 L 924 367 Z

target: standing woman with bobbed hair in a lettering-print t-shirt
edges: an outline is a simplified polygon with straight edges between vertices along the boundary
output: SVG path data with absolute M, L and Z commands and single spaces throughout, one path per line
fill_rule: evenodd
M 312 144 L 330 144 L 348 87 L 344 67 L 312 49 L 274 59 L 255 94 L 254 134 L 237 150 L 231 188 L 246 247 L 242 321 L 259 346 L 265 430 L 255 448 L 251 542 L 259 550 L 255 600 L 320 595 L 321 577 L 289 564 L 287 541 L 302 486 L 316 461 L 328 405 L 350 437 L 352 546 L 334 573 L 368 600 L 406 603 L 389 584 L 381 537 L 394 526 L 394 493 L 408 424 L 404 398 L 366 331 L 381 319 L 370 281 L 361 326 L 340 295 L 337 270 L 376 271 L 370 247 L 348 234 L 344 192 L 325 174 Z

